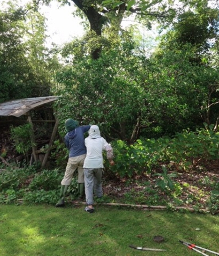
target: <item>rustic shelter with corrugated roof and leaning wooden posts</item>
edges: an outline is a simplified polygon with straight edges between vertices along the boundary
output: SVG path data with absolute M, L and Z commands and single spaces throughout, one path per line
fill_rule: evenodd
M 31 120 L 31 116 L 30 116 L 30 111 L 33 109 L 42 107 L 43 105 L 45 105 L 47 103 L 54 102 L 57 99 L 58 99 L 58 96 L 46 96 L 46 97 L 16 99 L 13 101 L 7 101 L 4 103 L 0 103 L 0 116 L 20 117 L 20 116 L 25 115 L 27 117 L 28 123 L 30 123 L 30 125 L 32 127 L 31 142 L 32 142 L 32 145 L 34 145 L 35 144 L 35 136 L 34 136 L 34 129 L 33 129 L 33 124 L 32 124 L 32 120 Z M 43 122 L 46 120 L 41 120 L 41 121 Z M 55 138 L 57 129 L 58 129 L 58 119 L 56 118 L 53 132 L 50 137 L 49 146 L 48 146 L 47 151 L 42 160 L 42 165 L 41 165 L 42 168 L 45 167 L 46 162 L 48 160 L 51 146 L 53 144 L 53 140 Z M 32 155 L 34 157 L 34 161 L 38 161 L 38 159 L 39 159 L 38 153 L 40 153 L 40 152 L 37 152 L 36 147 L 32 146 Z

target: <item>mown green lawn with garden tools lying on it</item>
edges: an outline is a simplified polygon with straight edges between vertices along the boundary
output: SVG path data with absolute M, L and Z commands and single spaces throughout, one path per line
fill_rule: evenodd
M 195 256 L 178 240 L 219 252 L 219 218 L 210 214 L 96 206 L 0 206 L 1 256 Z M 165 241 L 157 244 L 153 237 Z M 138 251 L 130 244 L 166 249 Z M 209 254 L 209 253 L 207 253 Z

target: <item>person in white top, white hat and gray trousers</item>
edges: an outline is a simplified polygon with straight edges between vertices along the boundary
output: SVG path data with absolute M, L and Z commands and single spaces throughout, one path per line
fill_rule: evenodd
M 89 213 L 94 212 L 93 192 L 95 196 L 102 197 L 102 173 L 103 173 L 103 150 L 107 152 L 107 159 L 110 165 L 114 165 L 113 149 L 107 141 L 101 137 L 97 125 L 91 125 L 88 131 L 89 136 L 85 138 L 87 155 L 84 160 L 84 184 L 87 207 L 84 209 Z

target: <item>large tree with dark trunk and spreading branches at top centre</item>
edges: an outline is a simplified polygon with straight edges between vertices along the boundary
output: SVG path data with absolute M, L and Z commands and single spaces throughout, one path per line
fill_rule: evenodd
M 38 0 L 34 3 L 49 4 L 53 0 Z M 113 25 L 114 33 L 118 33 L 124 17 L 135 15 L 136 19 L 144 20 L 147 27 L 151 28 L 152 22 L 160 23 L 163 27 L 169 27 L 188 8 L 203 8 L 208 3 L 216 4 L 217 0 L 58 0 L 64 4 L 74 3 L 79 12 L 87 18 L 90 30 L 97 38 L 101 37 L 106 25 Z M 207 9 L 205 8 L 205 11 Z M 211 10 L 208 10 L 211 11 Z M 208 15 L 208 12 L 206 13 Z M 97 44 L 96 49 L 91 53 L 93 59 L 100 56 L 101 44 Z

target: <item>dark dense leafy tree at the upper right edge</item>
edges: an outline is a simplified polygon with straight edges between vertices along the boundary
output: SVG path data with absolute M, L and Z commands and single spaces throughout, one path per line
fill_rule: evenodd
M 174 95 L 178 95 L 177 98 L 189 99 L 185 102 L 184 110 L 188 112 L 189 109 L 190 114 L 193 113 L 193 117 L 190 118 L 202 120 L 208 125 L 215 124 L 215 130 L 218 129 L 219 122 L 217 110 L 219 70 L 214 60 L 218 35 L 219 9 L 210 8 L 208 1 L 196 1 L 193 9 L 178 15 L 178 20 L 162 37 L 159 48 L 154 54 L 155 59 L 161 63 L 162 69 L 168 70 L 166 80 L 171 87 L 174 86 Z M 180 57 L 182 53 L 184 57 Z M 188 61 L 187 66 L 183 65 L 185 60 Z M 175 70 L 172 69 L 174 66 Z M 176 86 L 177 80 L 181 80 L 178 86 Z M 169 88 L 167 85 L 166 89 Z M 169 100 L 171 98 L 172 96 Z M 176 106 L 179 104 L 177 103 Z

